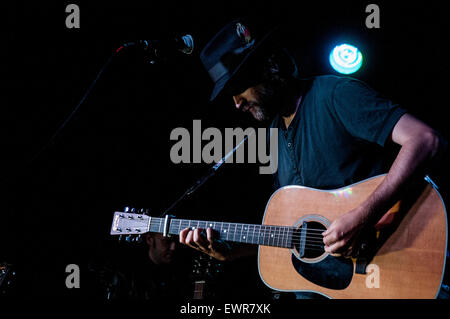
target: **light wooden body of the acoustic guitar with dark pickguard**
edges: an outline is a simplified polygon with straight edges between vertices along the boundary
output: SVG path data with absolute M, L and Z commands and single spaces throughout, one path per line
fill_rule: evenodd
M 384 176 L 332 191 L 281 188 L 269 200 L 263 224 L 325 230 L 363 202 Z M 374 241 L 376 249 L 363 267 L 365 273 L 355 271 L 357 259 L 333 257 L 320 249 L 300 256 L 296 249 L 270 246 L 259 246 L 259 273 L 272 289 L 316 292 L 330 298 L 437 296 L 445 267 L 447 217 L 431 185 L 387 212 L 374 230 Z

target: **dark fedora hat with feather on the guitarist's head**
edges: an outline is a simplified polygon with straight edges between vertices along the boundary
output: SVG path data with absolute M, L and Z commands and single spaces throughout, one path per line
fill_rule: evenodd
M 258 26 L 254 21 L 237 19 L 223 27 L 206 44 L 200 59 L 214 81 L 210 101 L 236 77 L 239 69 L 257 49 L 261 50 L 263 44 L 273 44 L 268 40 L 277 29 L 277 26 Z

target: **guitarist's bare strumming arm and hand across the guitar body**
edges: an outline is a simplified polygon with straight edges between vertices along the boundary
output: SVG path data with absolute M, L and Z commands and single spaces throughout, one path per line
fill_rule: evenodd
M 386 178 L 359 207 L 336 219 L 323 233 L 325 251 L 351 254 L 349 246 L 359 231 L 374 225 L 398 200 L 411 178 L 447 147 L 436 131 L 410 114 L 397 122 L 391 140 L 401 148 Z

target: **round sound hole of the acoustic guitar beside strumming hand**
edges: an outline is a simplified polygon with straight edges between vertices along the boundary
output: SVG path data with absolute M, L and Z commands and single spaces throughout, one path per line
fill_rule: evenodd
M 302 232 L 303 225 L 306 224 L 306 234 Z M 294 233 L 294 251 L 301 259 L 315 259 L 323 255 L 324 244 L 322 232 L 326 230 L 325 225 L 316 221 L 309 221 L 300 224 Z M 303 238 L 303 240 L 302 240 Z

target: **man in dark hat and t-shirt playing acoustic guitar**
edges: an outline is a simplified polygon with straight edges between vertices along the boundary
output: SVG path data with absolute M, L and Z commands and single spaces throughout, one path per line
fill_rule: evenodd
M 275 38 L 276 31 L 263 32 L 243 20 L 220 30 L 201 53 L 215 83 L 211 100 L 228 95 L 237 109 L 278 128 L 276 189 L 292 184 L 336 189 L 387 172 L 370 196 L 322 234 L 326 252 L 356 255 L 364 230 L 380 221 L 447 143 L 359 80 L 299 78 L 295 62 Z M 385 166 L 381 154 L 389 145 L 399 151 Z M 217 240 L 211 228 L 185 228 L 179 240 L 219 260 L 256 254 L 255 246 Z

